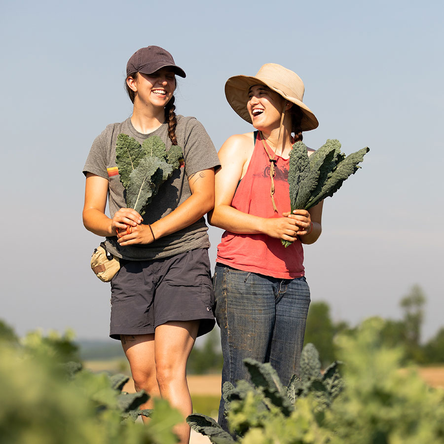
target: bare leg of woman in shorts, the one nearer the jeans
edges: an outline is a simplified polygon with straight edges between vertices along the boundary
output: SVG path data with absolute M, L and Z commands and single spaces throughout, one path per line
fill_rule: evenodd
M 192 413 L 185 370 L 198 328 L 199 321 L 169 321 L 155 331 L 155 363 L 160 394 L 184 418 Z M 175 432 L 181 444 L 188 444 L 190 429 L 186 422 L 176 426 Z

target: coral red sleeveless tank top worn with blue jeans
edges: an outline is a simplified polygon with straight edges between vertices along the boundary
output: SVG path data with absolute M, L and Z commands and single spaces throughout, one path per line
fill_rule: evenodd
M 270 154 L 272 151 L 269 149 Z M 289 159 L 277 156 L 274 176 L 273 209 L 270 197 L 270 160 L 255 132 L 255 148 L 247 172 L 234 193 L 231 206 L 243 213 L 261 218 L 279 218 L 290 211 L 287 182 Z M 299 239 L 285 248 L 280 239 L 266 234 L 235 234 L 225 231 L 218 245 L 217 261 L 243 271 L 251 271 L 280 279 L 304 275 L 304 253 Z

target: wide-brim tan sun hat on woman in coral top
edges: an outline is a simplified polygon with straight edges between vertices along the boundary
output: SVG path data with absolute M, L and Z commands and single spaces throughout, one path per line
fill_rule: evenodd
M 265 85 L 280 94 L 284 99 L 296 104 L 302 111 L 301 131 L 318 127 L 319 122 L 313 112 L 302 102 L 304 83 L 293 71 L 276 63 L 266 63 L 255 76 L 235 75 L 225 83 L 225 97 L 231 108 L 244 120 L 252 123 L 247 110 L 249 89 L 253 85 Z

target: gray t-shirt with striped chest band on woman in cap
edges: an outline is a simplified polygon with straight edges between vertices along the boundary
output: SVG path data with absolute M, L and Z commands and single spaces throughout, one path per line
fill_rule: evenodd
M 112 123 L 94 141 L 83 173 L 87 172 L 108 179 L 108 202 L 111 218 L 120 208 L 125 208 L 123 195 L 124 187 L 118 174 L 115 174 L 115 143 L 117 136 L 127 134 L 142 143 L 150 136 L 159 136 L 168 150 L 171 140 L 168 137 L 168 124 L 164 123 L 149 134 L 139 133 L 127 118 L 122 123 Z M 177 143 L 184 153 L 185 165 L 173 172 L 173 176 L 164 182 L 158 194 L 149 204 L 142 223 L 153 223 L 171 213 L 190 195 L 187 178 L 198 171 L 219 166 L 216 148 L 205 128 L 194 117 L 177 116 Z M 108 251 L 118 258 L 129 260 L 161 259 L 184 253 L 196 248 L 208 248 L 210 242 L 207 234 L 208 227 L 202 217 L 199 221 L 186 228 L 161 237 L 148 245 L 121 247 L 116 237 L 107 237 Z

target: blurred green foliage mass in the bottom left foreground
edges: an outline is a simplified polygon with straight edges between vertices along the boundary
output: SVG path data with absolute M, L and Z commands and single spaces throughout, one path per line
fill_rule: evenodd
M 30 333 L 19 340 L 0 322 L 2 444 L 177 443 L 177 410 L 163 400 L 139 410 L 148 395 L 122 393 L 127 376 L 83 370 L 71 339 Z M 135 422 L 142 413 L 148 426 Z

